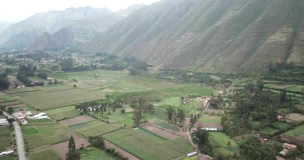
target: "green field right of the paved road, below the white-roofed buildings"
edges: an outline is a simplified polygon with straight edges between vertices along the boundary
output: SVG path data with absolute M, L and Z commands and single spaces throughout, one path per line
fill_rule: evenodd
M 71 135 L 78 137 L 61 124 L 26 125 L 24 135 L 29 149 L 65 141 Z

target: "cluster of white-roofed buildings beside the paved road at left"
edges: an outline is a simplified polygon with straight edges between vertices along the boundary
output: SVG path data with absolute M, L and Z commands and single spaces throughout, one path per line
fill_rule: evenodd
M 50 119 L 44 112 L 27 111 L 25 108 L 12 113 L 12 116 L 18 119 L 22 124 L 27 124 L 26 119 Z

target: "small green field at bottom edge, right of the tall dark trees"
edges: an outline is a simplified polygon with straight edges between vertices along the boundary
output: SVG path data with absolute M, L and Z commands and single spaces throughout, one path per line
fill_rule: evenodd
M 87 147 L 79 150 L 79 152 L 80 160 L 115 160 L 115 158 L 95 147 Z

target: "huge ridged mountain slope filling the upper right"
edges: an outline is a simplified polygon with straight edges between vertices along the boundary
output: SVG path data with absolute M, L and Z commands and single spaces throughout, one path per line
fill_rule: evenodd
M 130 13 L 82 47 L 157 67 L 209 72 L 304 65 L 302 0 L 161 0 Z

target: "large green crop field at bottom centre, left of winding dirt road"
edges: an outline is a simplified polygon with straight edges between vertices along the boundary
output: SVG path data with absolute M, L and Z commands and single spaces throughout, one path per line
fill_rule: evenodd
M 186 138 L 159 141 L 154 136 L 145 135 L 133 128 L 105 134 L 104 138 L 133 155 L 146 160 L 172 159 L 193 152 L 193 148 Z

